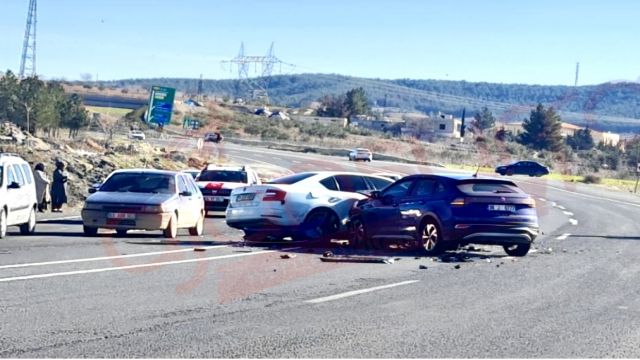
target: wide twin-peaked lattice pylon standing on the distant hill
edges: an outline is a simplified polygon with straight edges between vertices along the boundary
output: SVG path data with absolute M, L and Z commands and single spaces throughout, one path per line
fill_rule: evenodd
M 235 66 L 238 71 L 238 79 L 241 84 L 249 89 L 249 95 L 255 100 L 263 101 L 265 104 L 269 103 L 269 95 L 267 89 L 273 74 L 274 68 L 279 67 L 279 71 L 282 72 L 282 65 L 294 66 L 292 64 L 285 63 L 278 59 L 273 51 L 273 44 L 269 47 L 269 51 L 265 56 L 249 56 L 244 52 L 244 43 L 240 44 L 240 51 L 238 55 L 231 59 L 222 61 L 222 64 L 229 64 L 231 70 Z M 253 65 L 253 72 L 251 72 L 251 65 Z M 252 75 L 257 77 L 252 77 Z

